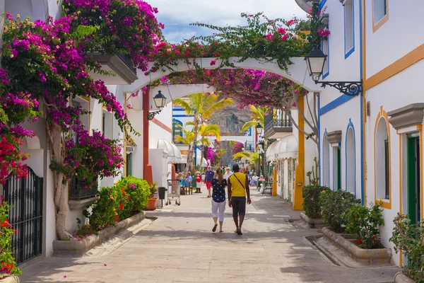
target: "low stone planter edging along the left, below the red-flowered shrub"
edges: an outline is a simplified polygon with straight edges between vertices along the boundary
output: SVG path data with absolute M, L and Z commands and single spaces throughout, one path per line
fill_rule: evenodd
M 143 220 L 145 216 L 146 212 L 140 212 L 139 214 L 135 214 L 127 219 L 119 221 L 115 226 L 110 226 L 99 231 L 98 235 L 90 235 L 81 241 L 53 241 L 53 255 L 81 256 L 94 246 L 97 246 L 111 236 L 114 236 L 122 229 L 126 229 L 127 227 Z

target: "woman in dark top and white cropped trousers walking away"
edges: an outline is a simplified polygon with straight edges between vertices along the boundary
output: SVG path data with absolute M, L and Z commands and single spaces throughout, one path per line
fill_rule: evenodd
M 217 178 L 211 182 L 212 186 L 212 217 L 215 225 L 212 232 L 216 231 L 219 218 L 219 231 L 223 232 L 223 221 L 225 212 L 225 187 L 227 187 L 227 180 L 223 177 L 222 169 L 216 171 Z

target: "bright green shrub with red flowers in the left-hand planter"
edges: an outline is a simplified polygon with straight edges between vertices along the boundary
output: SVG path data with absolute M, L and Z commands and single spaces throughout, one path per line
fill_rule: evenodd
M 133 176 L 119 180 L 113 187 L 102 187 L 88 215 L 90 226 L 103 229 L 141 212 L 146 207 L 150 187 L 146 180 Z

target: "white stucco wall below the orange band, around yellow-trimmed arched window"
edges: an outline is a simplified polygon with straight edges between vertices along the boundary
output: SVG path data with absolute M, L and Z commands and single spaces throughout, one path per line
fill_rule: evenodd
M 375 133 L 375 122 L 377 115 L 380 111 L 380 106 L 383 107 L 385 112 L 396 110 L 404 107 L 411 103 L 423 103 L 423 89 L 420 81 L 422 80 L 422 70 L 424 69 L 424 62 L 420 61 L 413 64 L 408 69 L 405 69 L 399 74 L 387 79 L 377 86 L 371 88 L 366 93 L 367 101 L 370 101 L 370 114 L 367 117 L 365 124 L 366 129 L 366 160 L 367 160 L 367 203 L 375 202 L 375 159 L 374 159 L 374 133 Z M 396 129 L 389 127 L 390 131 L 390 154 L 391 154 L 391 209 L 384 209 L 384 226 L 380 229 L 382 233 L 382 243 L 384 246 L 393 247 L 393 244 L 389 242 L 391 231 L 394 227 L 393 219 L 400 209 L 400 197 L 401 192 L 404 192 L 404 207 L 403 212 L 407 213 L 406 210 L 406 167 L 402 171 L 404 176 L 404 182 L 400 186 L 399 171 L 401 171 L 401 162 L 399 161 L 399 134 L 396 133 Z M 403 135 L 404 136 L 404 135 Z M 404 139 L 406 141 L 406 139 Z M 420 141 L 420 148 L 423 150 L 423 141 Z M 403 142 L 403 159 L 406 158 L 406 144 Z M 421 168 L 423 170 L 423 168 Z M 422 180 L 421 180 L 422 181 Z M 421 195 L 423 195 L 421 191 Z M 394 260 L 399 264 L 399 255 L 394 254 Z

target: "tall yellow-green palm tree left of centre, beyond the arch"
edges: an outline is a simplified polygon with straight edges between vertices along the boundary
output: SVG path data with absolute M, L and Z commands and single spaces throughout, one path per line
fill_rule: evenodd
M 188 96 L 187 100 L 183 98 L 175 99 L 174 104 L 181 106 L 185 110 L 186 115 L 194 115 L 194 141 L 197 141 L 201 121 L 211 117 L 217 110 L 234 104 L 234 100 L 232 98 L 218 100 L 217 94 L 193 93 Z M 192 170 L 193 154 L 194 146 L 189 146 L 185 173 Z

